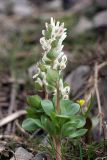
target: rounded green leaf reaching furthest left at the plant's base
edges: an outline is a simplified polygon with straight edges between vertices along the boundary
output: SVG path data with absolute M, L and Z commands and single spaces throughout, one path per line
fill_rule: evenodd
M 25 119 L 22 123 L 22 127 L 27 131 L 35 131 L 39 128 L 32 118 Z

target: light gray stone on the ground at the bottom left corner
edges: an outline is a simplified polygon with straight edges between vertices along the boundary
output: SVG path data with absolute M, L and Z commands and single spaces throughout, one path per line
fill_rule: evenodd
M 15 158 L 17 160 L 32 160 L 33 154 L 28 152 L 26 149 L 19 147 L 15 151 Z M 11 158 L 10 160 L 15 160 L 15 158 Z

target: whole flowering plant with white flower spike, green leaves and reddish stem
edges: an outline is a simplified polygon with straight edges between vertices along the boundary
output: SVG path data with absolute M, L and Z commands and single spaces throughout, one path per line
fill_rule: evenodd
M 29 96 L 27 102 L 28 118 L 22 126 L 28 131 L 42 128 L 52 138 L 56 151 L 56 160 L 61 160 L 61 139 L 76 138 L 84 135 L 85 116 L 80 112 L 80 103 L 69 99 L 70 87 L 63 81 L 62 70 L 66 67 L 67 57 L 62 51 L 62 42 L 66 38 L 64 23 L 51 18 L 42 31 L 40 43 L 43 57 L 37 63 L 33 76 L 36 89 L 45 91 L 45 98 L 38 95 Z M 50 100 L 53 95 L 52 100 Z

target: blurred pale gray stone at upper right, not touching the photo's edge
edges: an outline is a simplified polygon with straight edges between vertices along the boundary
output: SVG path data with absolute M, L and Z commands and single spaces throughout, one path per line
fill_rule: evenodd
M 92 28 L 93 28 L 92 21 L 88 20 L 86 17 L 81 17 L 78 24 L 73 29 L 73 33 L 74 34 L 83 33 Z

